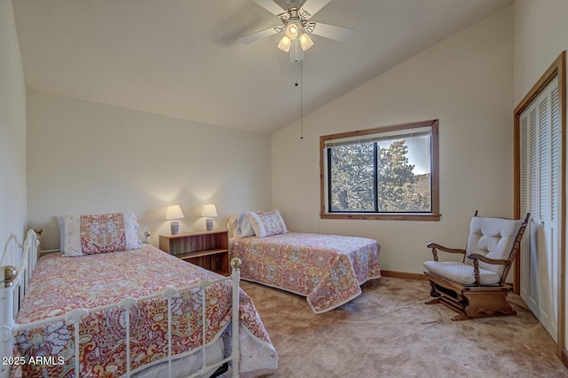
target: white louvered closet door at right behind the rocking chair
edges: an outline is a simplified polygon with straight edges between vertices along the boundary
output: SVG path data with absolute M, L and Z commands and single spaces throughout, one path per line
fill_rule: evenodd
M 556 341 L 560 250 L 561 134 L 558 85 L 548 84 L 520 115 L 521 297 Z

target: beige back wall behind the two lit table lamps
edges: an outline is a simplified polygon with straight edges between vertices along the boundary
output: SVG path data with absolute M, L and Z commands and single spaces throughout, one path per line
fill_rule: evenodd
M 28 91 L 28 220 L 43 248 L 59 248 L 55 216 L 138 214 L 139 235 L 170 233 L 166 206 L 185 213 L 182 232 L 271 204 L 270 137 Z

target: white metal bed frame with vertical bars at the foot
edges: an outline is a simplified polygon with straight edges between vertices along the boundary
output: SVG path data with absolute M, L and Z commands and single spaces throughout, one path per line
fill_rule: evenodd
M 239 281 L 241 278 L 241 260 L 233 258 L 231 261 L 232 273 L 231 276 L 219 280 L 203 280 L 195 285 L 181 288 L 168 287 L 160 293 L 153 295 L 146 295 L 140 298 L 126 297 L 118 303 L 108 304 L 106 306 L 99 306 L 94 309 L 75 309 L 68 311 L 64 315 L 53 317 L 50 319 L 38 320 L 24 325 L 16 324 L 16 315 L 20 311 L 20 305 L 24 296 L 28 292 L 28 283 L 31 273 L 36 269 L 36 263 L 39 253 L 39 239 L 34 230 L 29 230 L 26 240 L 22 246 L 22 256 L 20 258 L 19 267 L 16 269 L 13 266 L 0 266 L 0 357 L 13 358 L 14 335 L 20 330 L 26 330 L 32 327 L 39 327 L 45 324 L 64 320 L 67 324 L 72 324 L 75 327 L 75 376 L 76 372 L 80 371 L 81 361 L 79 359 L 79 325 L 83 316 L 97 311 L 107 311 L 112 308 L 122 308 L 126 311 L 126 377 L 130 377 L 130 307 L 137 302 L 149 300 L 152 298 L 163 297 L 168 300 L 168 372 L 171 377 L 172 374 L 172 348 L 171 348 L 171 298 L 180 292 L 193 290 L 199 288 L 202 298 L 205 298 L 205 289 L 210 285 L 217 284 L 218 282 L 231 280 L 233 287 L 233 308 L 232 308 L 232 346 L 231 355 L 224 358 L 212 365 L 206 364 L 205 353 L 205 332 L 206 327 L 203 327 L 201 335 L 201 368 L 187 376 L 187 378 L 196 377 L 198 375 L 215 372 L 219 366 L 231 361 L 232 363 L 232 376 L 239 376 Z M 31 256 L 30 256 L 31 255 Z M 202 301 L 201 307 L 201 324 L 206 324 L 206 301 Z M 55 358 L 55 357 L 54 357 Z M 9 378 L 12 366 L 7 364 L 0 364 L 0 378 Z M 137 369 L 138 371 L 139 369 Z

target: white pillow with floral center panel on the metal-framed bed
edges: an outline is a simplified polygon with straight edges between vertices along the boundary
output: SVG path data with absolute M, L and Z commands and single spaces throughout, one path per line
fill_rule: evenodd
M 60 216 L 63 256 L 94 255 L 140 248 L 134 213 Z

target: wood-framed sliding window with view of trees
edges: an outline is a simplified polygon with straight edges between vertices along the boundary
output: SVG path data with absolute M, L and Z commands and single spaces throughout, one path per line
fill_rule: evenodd
M 322 218 L 439 220 L 438 120 L 319 138 Z

